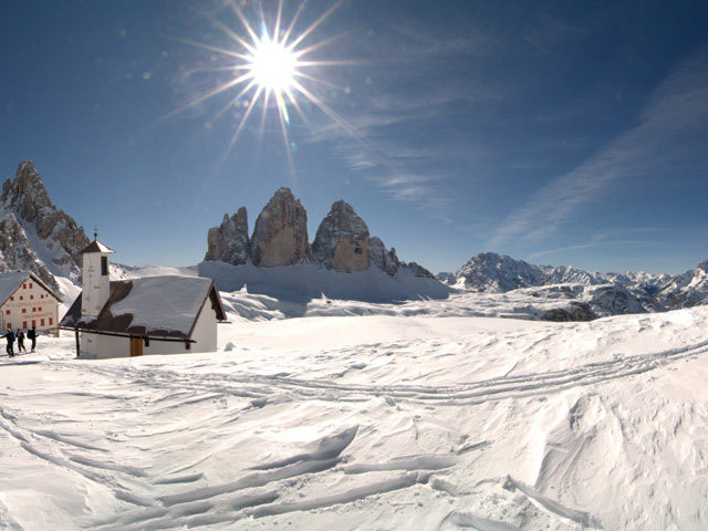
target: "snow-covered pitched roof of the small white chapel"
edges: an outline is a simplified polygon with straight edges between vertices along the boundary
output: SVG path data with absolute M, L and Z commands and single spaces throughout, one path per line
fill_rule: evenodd
M 201 308 L 210 301 L 219 321 L 226 312 L 216 283 L 202 277 L 144 277 L 111 282 L 98 317 L 83 321 L 81 295 L 60 326 L 96 332 L 189 339 Z

